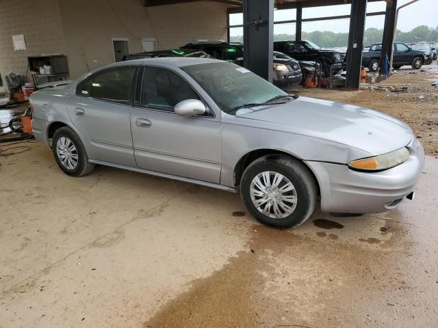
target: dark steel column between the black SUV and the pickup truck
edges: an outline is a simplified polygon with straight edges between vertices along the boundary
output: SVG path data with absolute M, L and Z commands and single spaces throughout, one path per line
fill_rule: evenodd
M 352 0 L 350 31 L 346 59 L 346 87 L 358 89 L 361 81 L 363 33 L 367 14 L 367 0 Z

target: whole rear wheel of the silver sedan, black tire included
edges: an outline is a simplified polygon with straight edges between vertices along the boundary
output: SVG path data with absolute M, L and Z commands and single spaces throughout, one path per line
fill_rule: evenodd
M 68 126 L 58 128 L 53 134 L 52 151 L 57 165 L 68 176 L 85 176 L 94 169 L 81 139 Z

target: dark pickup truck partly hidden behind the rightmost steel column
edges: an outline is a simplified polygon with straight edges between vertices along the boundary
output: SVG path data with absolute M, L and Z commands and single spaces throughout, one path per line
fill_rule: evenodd
M 370 46 L 370 51 L 363 51 L 362 66 L 368 67 L 370 72 L 378 70 L 378 62 L 381 58 L 382 44 L 374 43 Z M 392 59 L 392 67 L 398 68 L 404 65 L 411 65 L 413 69 L 419 69 L 424 63 L 424 53 L 422 51 L 413 50 L 407 44 L 402 42 L 394 42 L 394 55 Z

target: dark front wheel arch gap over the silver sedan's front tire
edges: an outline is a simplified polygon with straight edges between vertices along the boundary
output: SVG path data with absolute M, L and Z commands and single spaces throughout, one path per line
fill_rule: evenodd
M 311 167 L 309 167 L 309 165 L 307 165 L 305 161 L 302 161 L 302 159 L 298 158 L 294 154 L 290 154 L 289 152 L 285 152 L 284 150 L 276 150 L 270 148 L 259 148 L 259 149 L 251 150 L 250 152 L 244 154 L 239 159 L 239 161 L 237 161 L 233 170 L 235 186 L 239 186 L 240 180 L 242 179 L 242 175 L 246 167 L 248 167 L 250 163 L 253 163 L 253 161 L 259 159 L 261 156 L 273 155 L 273 154 L 283 154 L 285 156 L 291 157 L 292 159 L 296 159 L 297 161 L 300 161 L 300 163 L 304 164 L 305 167 L 307 167 L 307 169 L 309 170 L 311 176 L 313 176 L 313 180 L 315 180 L 316 187 L 318 188 L 318 195 L 320 195 L 320 182 L 318 178 L 315 176 L 315 173 L 313 172 Z

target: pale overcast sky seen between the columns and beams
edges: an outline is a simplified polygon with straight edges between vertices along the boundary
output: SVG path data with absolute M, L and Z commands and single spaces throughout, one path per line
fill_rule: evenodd
M 410 0 L 398 0 L 398 7 Z M 367 12 L 384 12 L 385 1 L 368 3 Z M 350 14 L 350 5 L 327 5 L 325 7 L 303 8 L 302 18 L 315 18 L 324 16 L 338 16 Z M 294 20 L 296 12 L 292 10 L 275 10 L 274 20 Z M 243 23 L 242 14 L 232 14 L 230 25 Z M 365 22 L 365 29 L 376 27 L 383 29 L 385 16 L 369 16 Z M 349 19 L 322 20 L 318 22 L 302 23 L 302 31 L 333 31 L 335 33 L 348 32 Z M 419 0 L 406 8 L 400 10 L 398 15 L 397 28 L 401 31 L 411 31 L 418 25 L 428 25 L 428 27 L 438 27 L 438 0 Z M 231 36 L 241 36 L 242 28 L 231 29 Z M 274 25 L 274 34 L 295 33 L 295 24 Z

